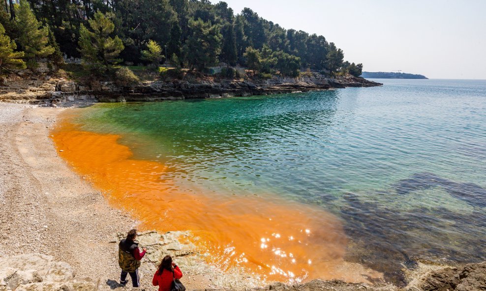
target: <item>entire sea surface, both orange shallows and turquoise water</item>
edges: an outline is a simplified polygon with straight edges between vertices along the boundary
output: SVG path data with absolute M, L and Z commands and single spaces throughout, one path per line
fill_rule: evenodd
M 96 104 L 53 132 L 61 156 L 222 268 L 404 284 L 419 263 L 486 260 L 486 80 Z

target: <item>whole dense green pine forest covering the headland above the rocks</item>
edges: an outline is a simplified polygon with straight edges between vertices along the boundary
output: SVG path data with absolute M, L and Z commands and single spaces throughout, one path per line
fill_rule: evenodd
M 82 57 L 93 69 L 124 62 L 202 70 L 225 63 L 296 76 L 299 69 L 357 75 L 359 65 L 322 35 L 285 29 L 250 8 L 209 0 L 0 1 L 0 24 L 24 60 Z M 164 52 L 161 49 L 164 48 Z

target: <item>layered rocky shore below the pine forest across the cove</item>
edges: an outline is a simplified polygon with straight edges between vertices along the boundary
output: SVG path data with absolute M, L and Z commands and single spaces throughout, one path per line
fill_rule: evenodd
M 44 105 L 79 100 L 142 102 L 240 97 L 382 85 L 352 76 L 334 79 L 325 78 L 319 74 L 312 77 L 253 81 L 225 79 L 152 81 L 142 82 L 131 87 L 122 87 L 114 82 L 91 82 L 87 85 L 49 76 L 45 76 L 44 80 L 34 78 L 33 80 L 23 79 L 22 82 L 5 81 L 4 83 L 8 85 L 0 91 L 0 101 Z

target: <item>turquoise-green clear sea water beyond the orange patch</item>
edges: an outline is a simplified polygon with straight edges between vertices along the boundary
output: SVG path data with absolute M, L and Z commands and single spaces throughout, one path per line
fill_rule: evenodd
M 486 260 L 486 81 L 377 80 L 228 99 L 100 104 L 83 129 L 117 133 L 175 188 L 265 195 L 341 217 L 347 260 L 401 282 L 403 265 Z

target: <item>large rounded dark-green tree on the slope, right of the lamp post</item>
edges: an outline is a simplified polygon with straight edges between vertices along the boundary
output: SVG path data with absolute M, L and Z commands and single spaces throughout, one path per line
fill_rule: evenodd
M 185 60 L 191 68 L 203 70 L 217 62 L 217 56 L 221 52 L 220 26 L 211 22 L 189 20 L 189 29 L 192 34 L 184 45 Z

